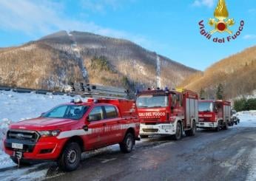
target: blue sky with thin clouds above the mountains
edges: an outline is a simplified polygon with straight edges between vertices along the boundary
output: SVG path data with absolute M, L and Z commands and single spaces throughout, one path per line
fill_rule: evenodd
M 218 0 L 1 0 L 0 47 L 36 40 L 58 30 L 79 30 L 126 38 L 195 69 L 256 45 L 256 1 L 226 0 L 229 18 L 245 21 L 235 41 L 216 44 L 203 38 Z M 225 34 L 214 36 L 226 37 Z

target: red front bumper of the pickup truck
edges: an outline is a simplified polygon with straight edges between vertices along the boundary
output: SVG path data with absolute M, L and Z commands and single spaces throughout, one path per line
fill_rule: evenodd
M 16 151 L 22 152 L 22 158 L 27 160 L 55 160 L 61 154 L 66 139 L 58 140 L 56 137 L 41 137 L 36 143 L 22 140 L 4 140 L 4 151 L 11 157 Z M 12 143 L 23 144 L 22 149 L 12 148 Z

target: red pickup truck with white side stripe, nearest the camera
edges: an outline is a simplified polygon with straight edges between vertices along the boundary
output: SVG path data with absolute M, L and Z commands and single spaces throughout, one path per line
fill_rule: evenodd
M 128 153 L 138 135 L 134 100 L 76 100 L 10 125 L 4 150 L 17 164 L 56 160 L 64 171 L 73 171 L 82 151 L 119 143 L 121 151 Z

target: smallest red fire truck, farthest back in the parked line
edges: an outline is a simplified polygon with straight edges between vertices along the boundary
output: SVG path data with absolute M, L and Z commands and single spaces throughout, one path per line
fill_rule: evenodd
M 198 128 L 228 129 L 231 120 L 230 106 L 231 103 L 225 100 L 199 100 L 199 123 Z

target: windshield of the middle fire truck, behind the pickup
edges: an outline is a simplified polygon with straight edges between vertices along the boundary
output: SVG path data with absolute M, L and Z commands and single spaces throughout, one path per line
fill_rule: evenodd
M 136 100 L 138 108 L 143 107 L 166 107 L 168 96 L 166 95 L 141 95 Z

